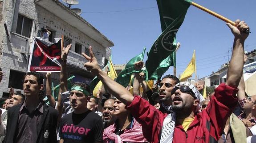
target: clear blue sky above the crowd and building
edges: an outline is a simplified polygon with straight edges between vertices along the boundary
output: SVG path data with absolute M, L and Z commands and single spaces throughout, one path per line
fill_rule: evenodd
M 112 62 L 126 64 L 140 54 L 143 47 L 149 52 L 161 34 L 156 0 L 78 0 L 86 21 L 110 39 Z M 226 18 L 244 20 L 250 27 L 250 35 L 244 49 L 256 49 L 256 0 L 194 0 Z M 186 69 L 193 51 L 199 78 L 216 72 L 230 60 L 234 36 L 226 23 L 202 10 L 190 6 L 176 35 L 181 47 L 176 54 L 177 76 Z M 144 57 L 146 62 L 147 56 Z M 164 75 L 173 74 L 171 67 Z M 195 74 L 194 74 L 195 75 Z M 193 77 L 194 77 L 193 75 Z

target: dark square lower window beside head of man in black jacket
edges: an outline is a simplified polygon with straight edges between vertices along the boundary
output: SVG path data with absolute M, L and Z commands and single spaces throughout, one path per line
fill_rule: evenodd
M 26 73 L 10 70 L 9 85 L 8 88 L 23 89 L 23 78 Z

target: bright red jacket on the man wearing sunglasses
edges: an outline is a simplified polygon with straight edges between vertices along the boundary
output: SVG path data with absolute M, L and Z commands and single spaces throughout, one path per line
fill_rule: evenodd
M 215 89 L 215 95 L 211 98 L 206 110 L 195 115 L 187 132 L 182 125 L 175 125 L 173 143 L 217 143 L 228 117 L 238 103 L 237 92 L 238 89 L 220 84 Z M 151 143 L 159 143 L 163 120 L 167 114 L 158 111 L 139 96 L 135 96 L 126 108 L 142 124 L 145 138 Z

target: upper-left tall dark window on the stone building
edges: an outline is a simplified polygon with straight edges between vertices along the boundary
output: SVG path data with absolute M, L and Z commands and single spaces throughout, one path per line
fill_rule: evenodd
M 24 17 L 19 14 L 16 33 L 29 38 L 31 33 L 32 21 L 33 21 L 32 19 L 28 19 L 27 17 Z

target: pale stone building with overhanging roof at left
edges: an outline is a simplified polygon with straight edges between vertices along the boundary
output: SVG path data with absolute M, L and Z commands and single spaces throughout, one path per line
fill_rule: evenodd
M 11 87 L 22 91 L 33 37 L 40 35 L 43 27 L 52 33 L 49 43 L 61 35 L 64 35 L 64 46 L 72 43 L 67 65 L 68 75 L 75 75 L 73 81 L 89 82 L 94 77 L 83 67 L 86 60 L 81 55 L 89 53 L 89 46 L 93 46 L 101 67 L 108 62 L 109 47 L 114 46 L 100 31 L 58 0 L 0 0 L 0 23 L 0 64 L 4 73 L 0 97 L 8 96 Z M 53 73 L 52 77 L 57 85 L 59 73 Z

